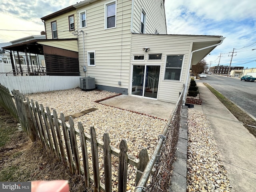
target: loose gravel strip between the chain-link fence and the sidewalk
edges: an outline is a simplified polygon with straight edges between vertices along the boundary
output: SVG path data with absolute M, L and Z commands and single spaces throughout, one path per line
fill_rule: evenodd
M 206 116 L 188 110 L 187 191 L 229 192 L 226 175 Z

